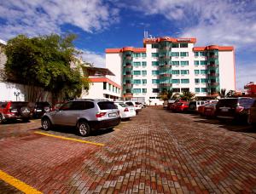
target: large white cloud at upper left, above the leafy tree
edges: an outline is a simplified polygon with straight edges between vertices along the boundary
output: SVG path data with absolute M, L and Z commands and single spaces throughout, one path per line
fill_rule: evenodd
M 61 25 L 78 26 L 84 31 L 102 31 L 119 20 L 119 10 L 102 0 L 8 0 L 0 3 L 0 37 L 17 34 L 33 37 L 61 33 Z

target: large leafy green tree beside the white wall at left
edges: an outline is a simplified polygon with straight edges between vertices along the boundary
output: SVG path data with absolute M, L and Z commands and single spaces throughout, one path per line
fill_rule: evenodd
M 81 79 L 78 68 L 70 66 L 76 54 L 74 39 L 73 34 L 52 34 L 32 38 L 19 35 L 9 40 L 5 49 L 9 81 L 44 88 L 52 93 L 53 100 L 78 97 L 88 83 Z

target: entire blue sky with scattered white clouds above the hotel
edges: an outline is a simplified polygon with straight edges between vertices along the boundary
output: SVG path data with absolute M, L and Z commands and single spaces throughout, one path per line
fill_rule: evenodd
M 105 48 L 143 47 L 144 30 L 232 45 L 237 88 L 256 82 L 256 0 L 0 0 L 0 13 L 0 39 L 73 32 L 95 66 L 105 66 Z

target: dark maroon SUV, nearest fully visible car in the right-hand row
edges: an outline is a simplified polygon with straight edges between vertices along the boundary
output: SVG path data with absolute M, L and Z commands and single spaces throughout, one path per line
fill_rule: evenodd
M 254 100 L 248 97 L 227 98 L 218 100 L 216 116 L 218 118 L 232 118 L 236 121 L 247 122 L 248 111 Z

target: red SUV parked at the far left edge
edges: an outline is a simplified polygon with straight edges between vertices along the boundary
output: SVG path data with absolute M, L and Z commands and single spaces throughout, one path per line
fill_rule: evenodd
M 28 121 L 32 117 L 32 109 L 28 102 L 7 101 L 0 102 L 0 123 L 11 119 L 22 119 Z

